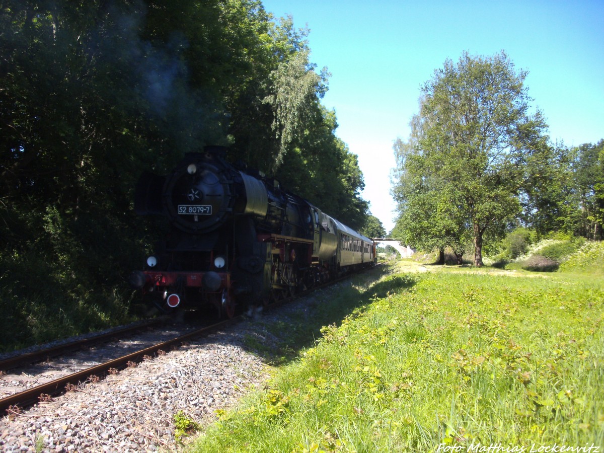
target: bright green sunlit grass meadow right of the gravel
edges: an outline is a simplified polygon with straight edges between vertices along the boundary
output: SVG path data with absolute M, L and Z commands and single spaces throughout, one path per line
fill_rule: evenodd
M 394 271 L 359 286 L 356 308 L 190 451 L 604 445 L 603 278 L 512 275 Z

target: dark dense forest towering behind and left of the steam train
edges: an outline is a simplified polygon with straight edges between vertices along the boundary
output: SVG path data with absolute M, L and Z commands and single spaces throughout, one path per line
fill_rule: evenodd
M 4 334 L 129 319 L 126 277 L 162 233 L 133 213 L 138 176 L 208 144 L 363 228 L 363 176 L 306 36 L 253 0 L 2 1 Z

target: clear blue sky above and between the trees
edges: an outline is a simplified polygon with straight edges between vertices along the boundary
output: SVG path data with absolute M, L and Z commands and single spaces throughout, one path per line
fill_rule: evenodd
M 359 156 L 363 198 L 394 226 L 392 145 L 409 135 L 419 88 L 463 51 L 505 50 L 543 112 L 552 141 L 604 138 L 604 0 L 418 1 L 262 0 L 276 17 L 310 29 L 310 60 L 332 77 L 323 104 Z

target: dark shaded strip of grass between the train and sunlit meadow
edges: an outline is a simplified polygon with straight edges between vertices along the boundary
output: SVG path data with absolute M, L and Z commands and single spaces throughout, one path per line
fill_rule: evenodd
M 273 365 L 288 364 L 301 350 L 312 347 L 322 336 L 322 327 L 339 326 L 353 312 L 364 312 L 373 299 L 404 291 L 416 283 L 417 277 L 405 274 L 382 278 L 389 271 L 384 266 L 373 268 L 313 292 L 294 303 L 295 309 L 286 306 L 266 313 L 251 322 L 251 331 L 244 334 L 244 347 Z

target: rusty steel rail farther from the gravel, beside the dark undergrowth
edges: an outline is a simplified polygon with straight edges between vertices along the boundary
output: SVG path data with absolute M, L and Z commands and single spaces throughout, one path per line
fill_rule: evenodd
M 51 346 L 45 349 L 40 349 L 38 351 L 30 352 L 27 354 L 9 357 L 7 359 L 0 360 L 0 371 L 7 371 L 11 368 L 16 368 L 19 365 L 27 365 L 38 361 L 41 362 L 49 357 L 56 357 L 58 355 L 61 355 L 62 353 L 71 352 L 89 344 L 107 341 L 111 338 L 114 338 L 115 336 L 123 335 L 124 333 L 128 332 L 134 332 L 140 329 L 145 329 L 146 327 L 156 326 L 157 324 L 162 322 L 163 321 L 159 319 L 150 320 L 146 323 L 138 324 L 137 326 L 124 327 L 123 329 L 112 330 L 112 332 L 103 333 L 101 335 L 95 335 L 89 338 L 84 338 L 77 341 L 72 341 L 56 346 Z

